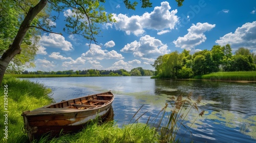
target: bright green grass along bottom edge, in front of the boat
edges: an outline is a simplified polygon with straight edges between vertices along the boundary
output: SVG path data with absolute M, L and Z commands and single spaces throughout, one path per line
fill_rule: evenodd
M 66 134 L 53 139 L 45 136 L 33 142 L 158 142 L 158 136 L 154 134 L 154 130 L 145 124 L 126 125 L 119 128 L 114 122 L 103 125 L 92 122 L 86 129 L 76 134 Z

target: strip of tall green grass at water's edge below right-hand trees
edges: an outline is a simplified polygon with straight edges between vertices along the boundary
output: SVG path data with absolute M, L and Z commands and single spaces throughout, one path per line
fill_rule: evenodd
M 202 76 L 195 76 L 194 79 L 224 81 L 256 81 L 256 71 L 218 72 Z

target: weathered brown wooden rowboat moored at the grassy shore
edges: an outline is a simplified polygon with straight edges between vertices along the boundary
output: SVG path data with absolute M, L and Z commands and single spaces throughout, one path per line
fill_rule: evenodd
M 44 133 L 59 135 L 77 131 L 97 116 L 104 117 L 110 110 L 114 94 L 109 92 L 62 101 L 22 113 L 30 141 Z

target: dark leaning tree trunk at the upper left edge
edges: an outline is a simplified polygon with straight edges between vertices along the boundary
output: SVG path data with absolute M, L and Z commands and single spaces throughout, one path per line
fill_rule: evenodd
M 13 40 L 13 43 L 10 44 L 9 49 L 6 50 L 6 52 L 3 54 L 3 56 L 0 58 L 0 84 L 2 84 L 4 74 L 6 71 L 6 68 L 10 61 L 15 57 L 15 55 L 19 54 L 22 49 L 20 48 L 20 45 L 22 44 L 22 41 L 27 33 L 27 31 L 30 28 L 30 24 L 35 18 L 35 16 L 45 8 L 47 5 L 47 0 L 41 0 L 35 7 L 31 7 L 24 18 L 22 25 L 20 25 L 18 33 L 16 37 Z

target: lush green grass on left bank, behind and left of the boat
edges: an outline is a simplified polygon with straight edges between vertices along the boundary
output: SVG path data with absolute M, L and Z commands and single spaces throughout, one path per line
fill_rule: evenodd
M 4 104 L 0 104 L 0 142 L 6 142 L 2 130 L 6 126 L 3 118 L 4 111 L 8 111 L 8 142 L 27 142 L 28 137 L 23 132 L 24 123 L 21 114 L 23 111 L 51 104 L 53 100 L 48 96 L 51 89 L 39 83 L 5 78 L 0 89 L 2 93 L 0 96 L 1 103 L 4 103 L 4 85 L 8 85 L 8 105 L 6 105 L 8 109 L 5 110 Z

